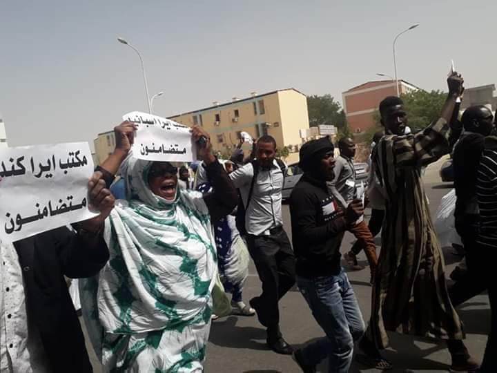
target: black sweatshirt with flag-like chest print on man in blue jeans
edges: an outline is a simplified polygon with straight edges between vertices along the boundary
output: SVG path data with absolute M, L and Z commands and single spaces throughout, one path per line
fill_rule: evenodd
M 326 183 L 304 173 L 290 195 L 290 214 L 297 276 L 339 274 L 346 224 Z

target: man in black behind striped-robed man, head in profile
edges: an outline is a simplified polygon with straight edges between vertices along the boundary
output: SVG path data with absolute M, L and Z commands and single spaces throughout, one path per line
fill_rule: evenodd
M 475 251 L 475 240 L 480 220 L 478 198 L 476 197 L 476 179 L 478 178 L 477 169 L 483 154 L 485 136 L 490 135 L 495 129 L 492 119 L 494 119 L 494 115 L 485 106 L 478 105 L 467 108 L 461 117 L 464 132 L 454 146 L 452 164 L 457 196 L 454 217 L 456 231 L 465 247 L 467 265 L 466 274 L 462 275 L 449 289 L 454 306 L 460 305 L 487 288 L 487 284 L 481 280 L 478 265 L 476 270 L 471 270 L 471 267 L 473 267 L 474 261 L 482 260 L 482 258 L 478 258 L 478 251 Z

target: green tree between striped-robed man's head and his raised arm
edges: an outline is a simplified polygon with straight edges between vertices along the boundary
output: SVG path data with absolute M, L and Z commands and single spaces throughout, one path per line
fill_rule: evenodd
M 428 126 L 440 117 L 440 110 L 447 98 L 441 90 L 413 90 L 411 93 L 401 95 L 407 112 L 407 125 L 413 132 Z

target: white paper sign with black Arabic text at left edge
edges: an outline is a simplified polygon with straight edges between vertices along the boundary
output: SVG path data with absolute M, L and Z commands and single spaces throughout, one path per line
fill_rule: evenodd
M 0 149 L 0 239 L 15 242 L 97 216 L 88 210 L 87 142 Z

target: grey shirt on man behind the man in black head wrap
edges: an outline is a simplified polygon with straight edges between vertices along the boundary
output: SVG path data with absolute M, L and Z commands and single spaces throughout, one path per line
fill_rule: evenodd
M 351 158 L 338 155 L 335 158 L 335 177 L 327 182 L 329 192 L 342 208 L 346 208 L 355 197 L 355 169 Z

